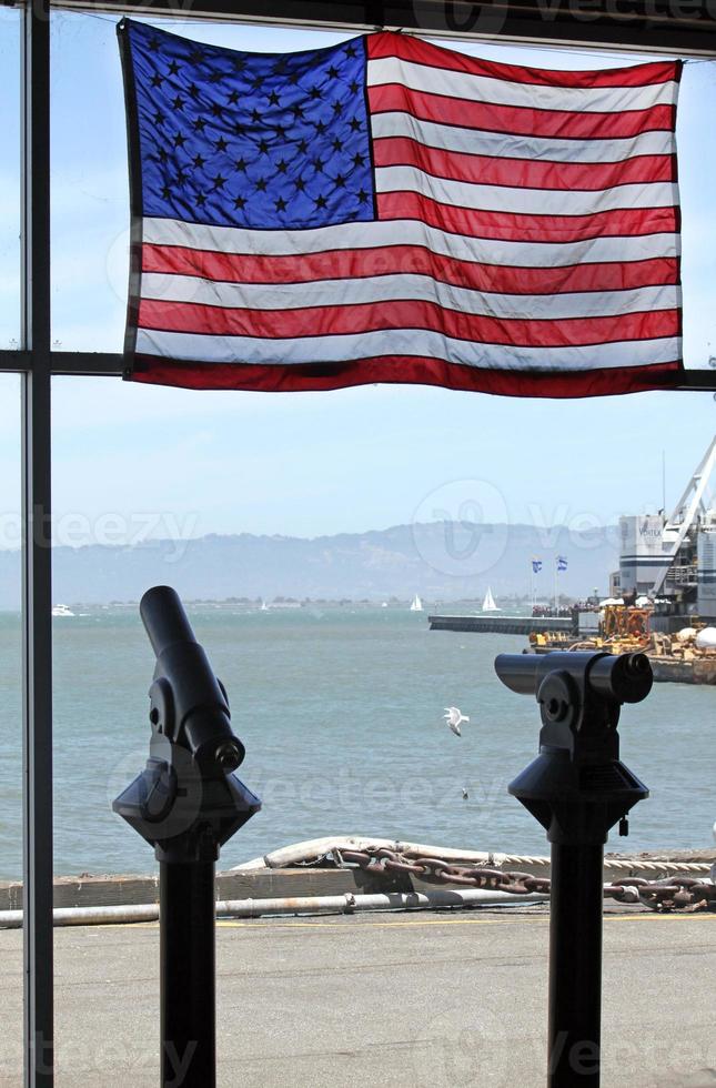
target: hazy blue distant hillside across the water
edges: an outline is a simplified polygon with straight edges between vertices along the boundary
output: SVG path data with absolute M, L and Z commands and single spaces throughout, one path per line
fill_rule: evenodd
M 242 533 L 134 547 L 58 547 L 53 598 L 135 601 L 150 585 L 167 582 L 188 600 L 420 593 L 431 602 L 476 597 L 488 584 L 498 597 L 528 591 L 533 555 L 544 564 L 535 580 L 538 594 L 553 593 L 557 555 L 568 561 L 559 575 L 564 593 L 584 596 L 595 586 L 606 592 L 608 572 L 617 565 L 616 532 L 433 522 L 314 540 Z M 0 552 L 0 608 L 18 606 L 19 586 L 19 554 Z

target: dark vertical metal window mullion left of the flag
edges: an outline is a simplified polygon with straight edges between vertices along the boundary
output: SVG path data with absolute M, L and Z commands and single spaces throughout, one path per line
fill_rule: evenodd
M 50 16 L 28 0 L 22 36 L 22 635 L 24 1085 L 52 1088 L 52 556 Z

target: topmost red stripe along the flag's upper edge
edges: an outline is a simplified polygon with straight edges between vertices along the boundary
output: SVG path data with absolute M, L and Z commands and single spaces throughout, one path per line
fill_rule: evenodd
M 628 68 L 614 68 L 603 72 L 559 72 L 541 68 L 518 68 L 515 64 L 500 64 L 457 53 L 418 38 L 384 31 L 366 38 L 370 60 L 397 57 L 401 60 L 427 68 L 440 68 L 452 72 L 466 72 L 470 75 L 487 75 L 491 79 L 510 83 L 534 83 L 539 87 L 601 88 L 601 87 L 651 87 L 668 83 L 680 75 L 682 66 L 674 61 L 657 61 L 649 64 L 633 64 Z

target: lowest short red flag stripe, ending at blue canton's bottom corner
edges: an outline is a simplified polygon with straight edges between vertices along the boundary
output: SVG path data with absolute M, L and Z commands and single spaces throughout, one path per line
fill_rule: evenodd
M 594 215 L 525 215 L 441 204 L 413 192 L 377 194 L 382 220 L 416 219 L 453 234 L 504 242 L 582 242 L 591 238 L 634 238 L 676 230 L 674 208 L 624 209 Z

